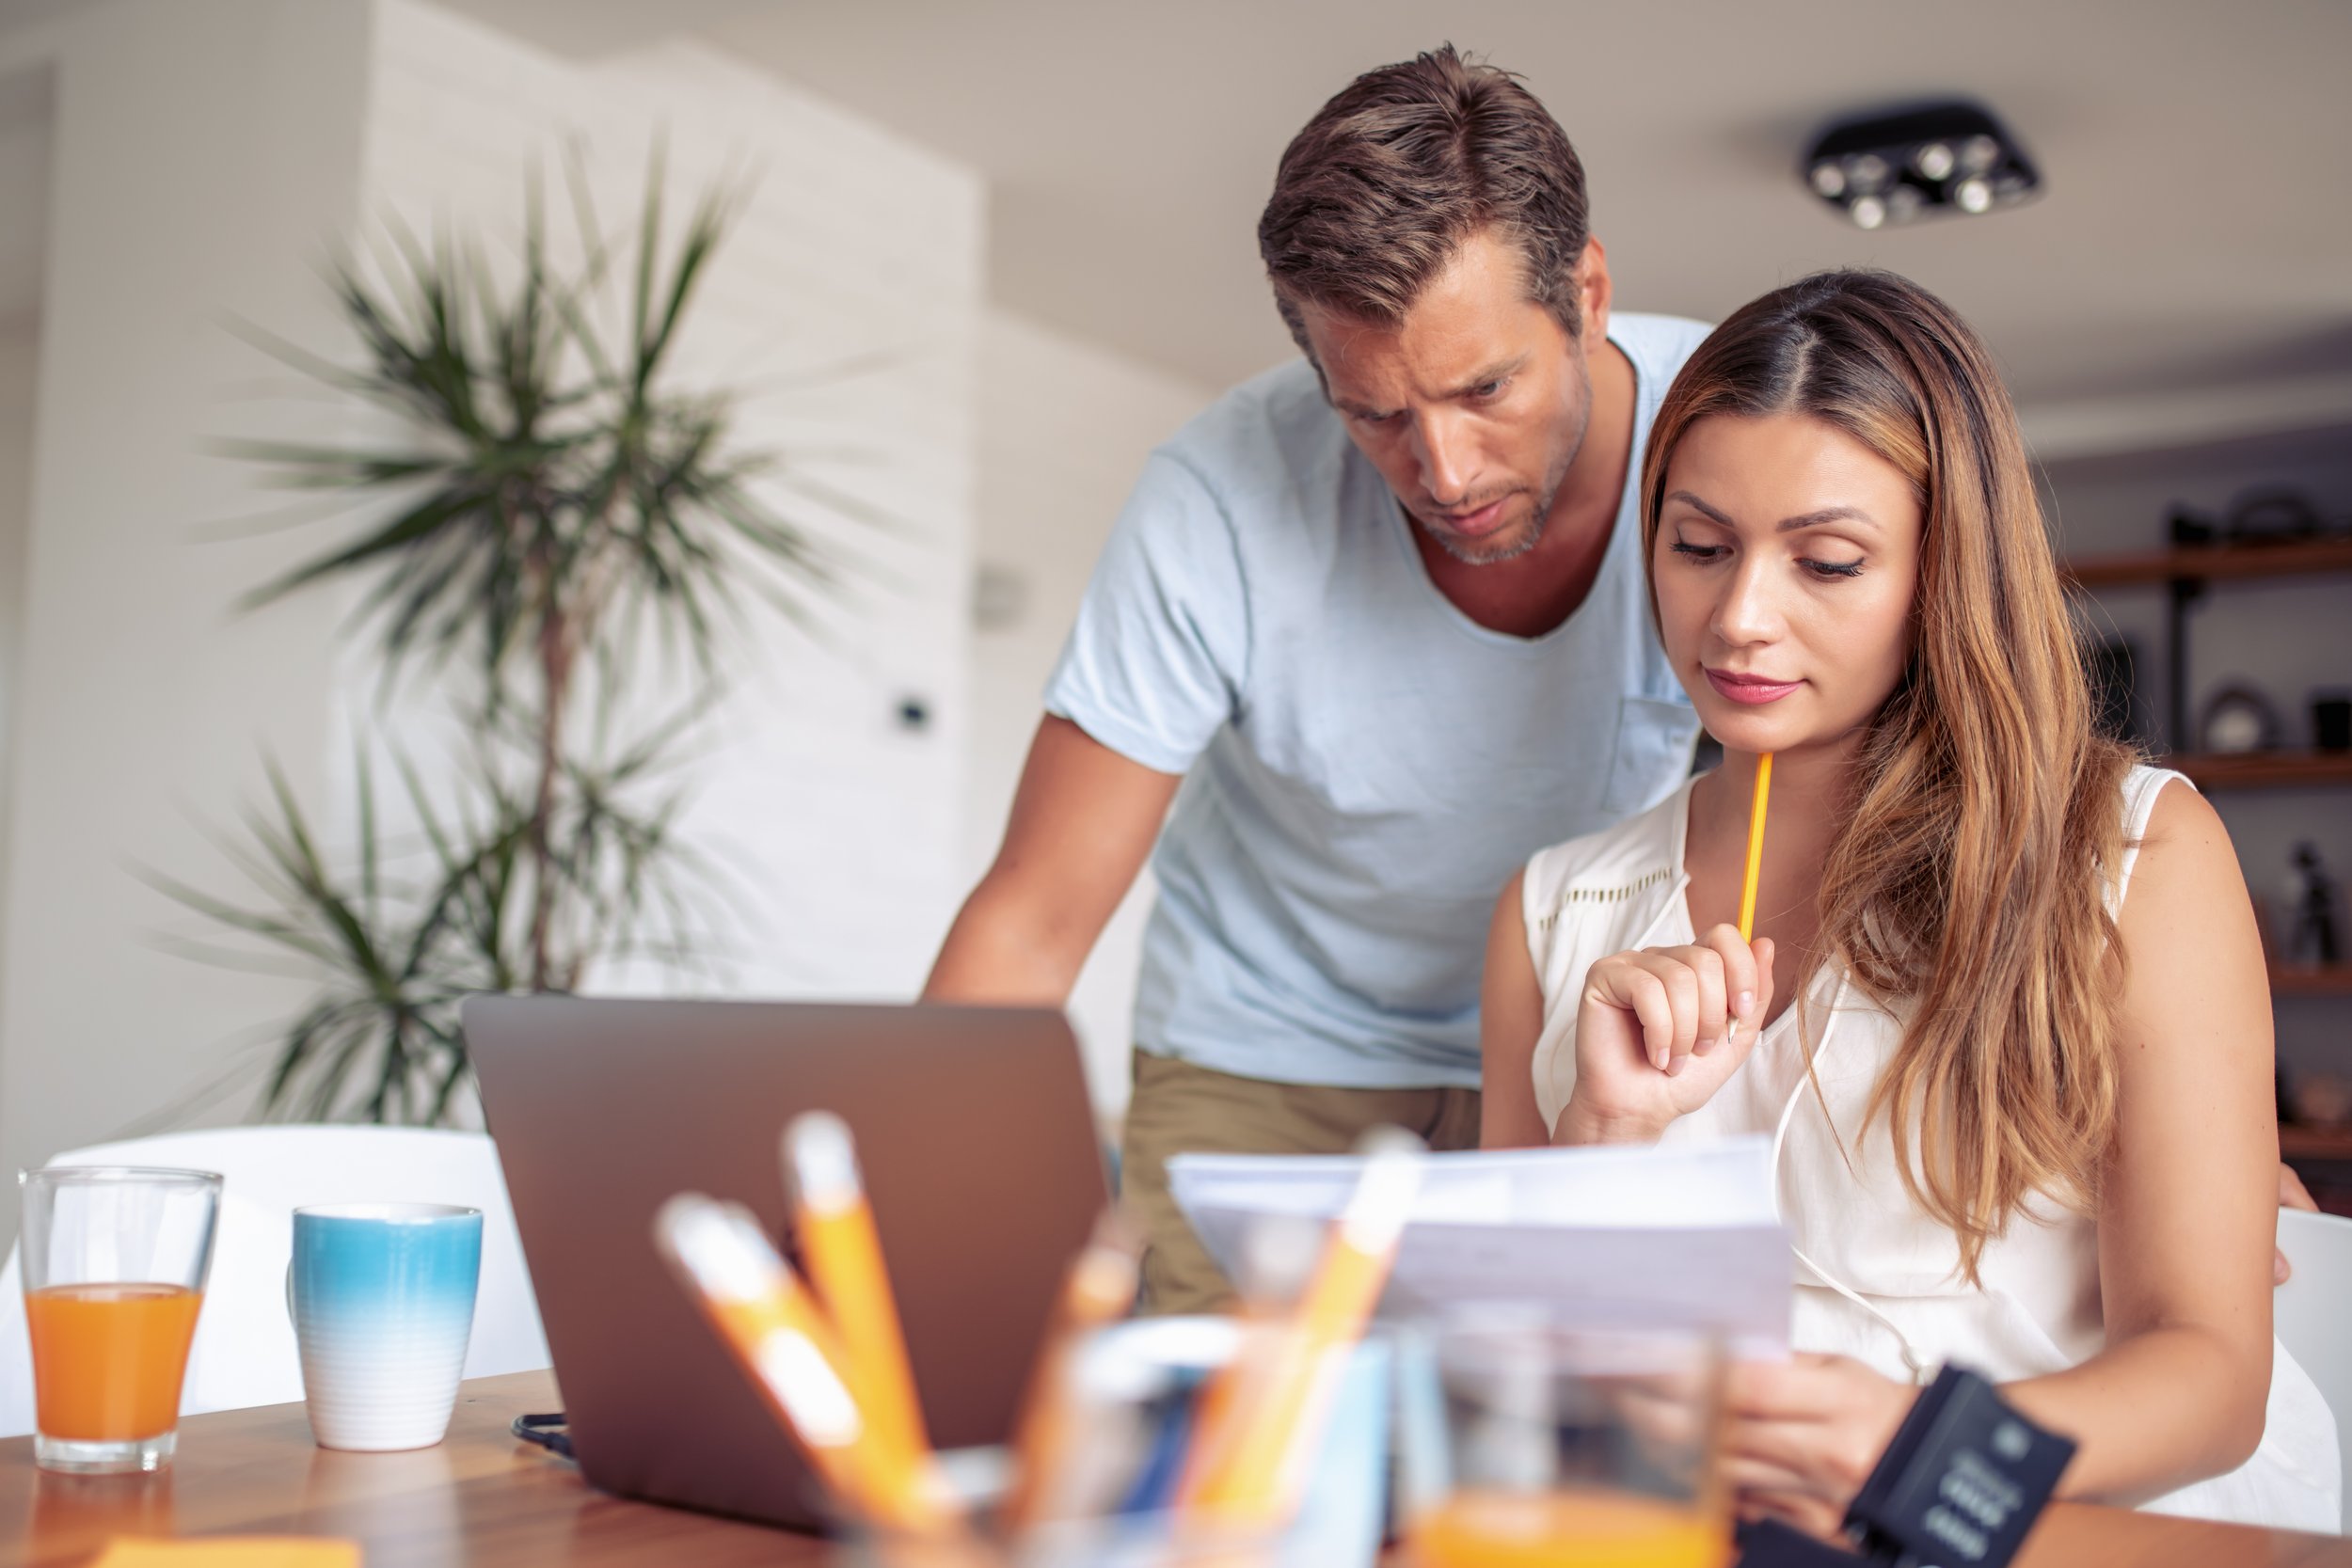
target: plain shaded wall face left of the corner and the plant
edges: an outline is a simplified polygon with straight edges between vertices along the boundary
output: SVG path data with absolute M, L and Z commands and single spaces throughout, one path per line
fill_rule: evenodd
M 193 966 L 129 865 L 188 870 L 270 743 L 325 755 L 329 604 L 230 602 L 285 538 L 207 543 L 249 475 L 205 451 L 254 376 L 230 313 L 320 341 L 313 261 L 358 193 L 365 0 L 113 0 L 47 35 L 49 247 L 0 898 L 0 1168 L 219 1072 L 296 999 Z M 294 430 L 306 425 L 296 423 Z M 318 428 L 315 418 L 308 428 Z M 0 1218 L 14 1229 L 14 1211 Z

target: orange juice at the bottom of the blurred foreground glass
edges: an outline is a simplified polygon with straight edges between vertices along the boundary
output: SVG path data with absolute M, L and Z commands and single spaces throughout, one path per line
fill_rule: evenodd
M 1630 1493 L 1446 1497 L 1411 1533 L 1421 1568 L 1722 1568 L 1726 1530 L 1689 1502 Z

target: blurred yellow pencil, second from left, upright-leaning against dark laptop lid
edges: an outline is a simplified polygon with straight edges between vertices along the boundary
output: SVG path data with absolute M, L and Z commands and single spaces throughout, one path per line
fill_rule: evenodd
M 847 1371 L 858 1403 L 910 1465 L 929 1465 L 931 1441 L 906 1359 L 906 1331 L 882 1267 L 882 1241 L 875 1237 L 849 1126 L 833 1112 L 795 1117 L 783 1128 L 783 1164 L 800 1194 L 795 1220 L 809 1284 L 826 1300 L 826 1314 L 849 1354 Z

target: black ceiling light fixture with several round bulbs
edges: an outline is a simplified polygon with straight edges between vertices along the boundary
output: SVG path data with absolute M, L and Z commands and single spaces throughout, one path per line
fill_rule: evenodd
M 1799 174 L 1856 228 L 1978 216 L 2042 188 L 2018 139 L 1966 99 L 1837 120 L 1813 139 Z

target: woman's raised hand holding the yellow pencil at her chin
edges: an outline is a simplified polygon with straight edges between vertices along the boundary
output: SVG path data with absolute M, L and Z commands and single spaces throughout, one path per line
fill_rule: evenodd
M 1595 964 L 1576 1009 L 1576 1093 L 1552 1143 L 1651 1143 L 1712 1100 L 1771 1009 L 1771 938 L 1715 926 L 1689 947 Z

